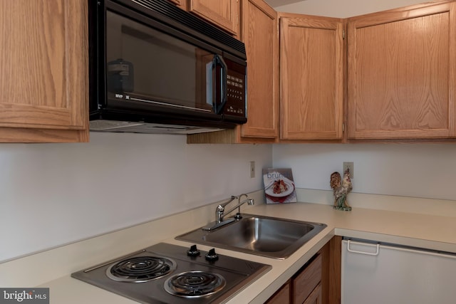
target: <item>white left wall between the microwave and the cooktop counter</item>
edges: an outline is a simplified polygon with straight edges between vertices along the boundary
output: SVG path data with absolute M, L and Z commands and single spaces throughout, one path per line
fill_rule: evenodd
M 1 144 L 0 261 L 261 189 L 271 165 L 270 145 L 186 145 L 180 135 Z

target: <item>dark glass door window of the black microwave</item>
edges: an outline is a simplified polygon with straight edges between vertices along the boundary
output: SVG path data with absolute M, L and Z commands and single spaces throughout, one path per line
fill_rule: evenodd
M 214 51 L 109 11 L 108 21 L 106 77 L 111 105 L 219 119 L 217 110 L 226 100 L 221 82 L 227 68 Z

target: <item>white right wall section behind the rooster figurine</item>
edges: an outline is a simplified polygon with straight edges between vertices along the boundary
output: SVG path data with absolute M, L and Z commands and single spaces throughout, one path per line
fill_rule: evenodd
M 456 201 L 456 144 L 275 145 L 273 159 L 297 188 L 331 190 L 331 173 L 354 162 L 353 192 Z

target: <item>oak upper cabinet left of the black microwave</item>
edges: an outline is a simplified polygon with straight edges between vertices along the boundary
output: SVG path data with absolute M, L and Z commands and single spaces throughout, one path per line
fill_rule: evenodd
M 0 1 L 0 142 L 88 141 L 87 1 Z

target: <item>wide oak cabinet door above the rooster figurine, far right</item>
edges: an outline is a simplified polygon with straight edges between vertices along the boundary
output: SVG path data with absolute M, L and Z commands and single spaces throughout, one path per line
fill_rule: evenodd
M 455 7 L 348 19 L 348 138 L 455 137 Z

